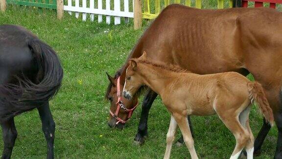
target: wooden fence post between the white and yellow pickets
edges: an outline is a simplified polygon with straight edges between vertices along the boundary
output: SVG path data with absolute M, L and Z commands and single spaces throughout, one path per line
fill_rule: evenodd
M 141 0 L 134 0 L 133 5 L 133 15 L 134 15 L 134 29 L 139 29 L 142 27 L 142 5 Z

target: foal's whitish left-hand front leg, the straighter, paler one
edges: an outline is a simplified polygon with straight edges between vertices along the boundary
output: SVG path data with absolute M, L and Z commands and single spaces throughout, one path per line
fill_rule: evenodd
M 177 123 L 173 117 L 173 115 L 170 116 L 170 123 L 169 123 L 169 128 L 166 134 L 166 149 L 165 149 L 165 154 L 164 154 L 164 159 L 169 159 L 170 157 L 170 152 L 171 152 L 171 147 L 172 143 L 175 138 L 175 132 L 177 129 Z

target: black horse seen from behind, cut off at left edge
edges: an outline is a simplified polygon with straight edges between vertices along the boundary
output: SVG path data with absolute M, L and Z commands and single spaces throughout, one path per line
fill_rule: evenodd
M 49 100 L 59 90 L 63 69 L 55 51 L 24 27 L 0 26 L 0 124 L 2 159 L 9 159 L 17 137 L 14 117 L 37 108 L 47 140 L 47 158 L 54 158 L 55 122 Z

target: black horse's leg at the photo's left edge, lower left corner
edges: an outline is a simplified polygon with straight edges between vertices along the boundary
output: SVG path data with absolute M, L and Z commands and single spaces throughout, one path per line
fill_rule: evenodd
M 4 142 L 4 150 L 1 158 L 10 159 L 18 135 L 18 132 L 15 127 L 14 118 L 6 122 L 3 122 L 1 124 L 1 127 L 2 127 L 3 142 Z

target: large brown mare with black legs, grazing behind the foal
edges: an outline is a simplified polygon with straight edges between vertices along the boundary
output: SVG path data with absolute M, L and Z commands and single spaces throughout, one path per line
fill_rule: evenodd
M 178 65 L 204 75 L 234 71 L 244 76 L 251 73 L 266 94 L 273 109 L 278 127 L 278 144 L 275 158 L 282 158 L 282 14 L 272 8 L 195 9 L 178 4 L 169 5 L 143 33 L 129 55 L 140 57 L 143 51 L 153 60 Z M 128 61 L 109 78 L 111 83 L 106 97 L 111 100 L 111 110 L 117 109 L 117 77 L 120 87 L 125 82 Z M 144 97 L 141 119 L 135 140 L 142 143 L 148 135 L 149 109 L 157 94 L 148 90 Z M 137 104 L 123 99 L 128 109 Z M 118 117 L 126 120 L 127 113 Z M 116 119 L 110 116 L 109 125 Z M 121 126 L 120 126 L 121 125 Z M 117 127 L 122 127 L 119 123 Z M 270 125 L 263 126 L 255 140 L 255 152 L 259 153 Z

